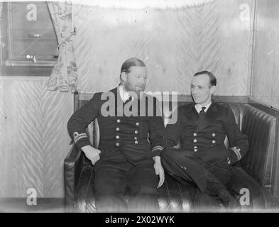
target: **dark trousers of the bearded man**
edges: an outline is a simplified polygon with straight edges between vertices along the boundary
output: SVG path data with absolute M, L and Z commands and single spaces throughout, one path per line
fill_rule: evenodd
M 158 211 L 158 176 L 153 165 L 153 160 L 140 165 L 127 160 L 98 165 L 94 170 L 97 211 Z

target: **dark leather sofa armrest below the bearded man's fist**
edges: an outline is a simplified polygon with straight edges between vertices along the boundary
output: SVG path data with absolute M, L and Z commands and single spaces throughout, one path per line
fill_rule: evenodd
M 82 170 L 82 151 L 73 145 L 64 160 L 65 205 L 74 205 L 75 189 Z

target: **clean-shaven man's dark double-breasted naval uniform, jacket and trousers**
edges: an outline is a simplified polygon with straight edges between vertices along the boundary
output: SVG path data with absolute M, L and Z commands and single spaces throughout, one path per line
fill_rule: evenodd
M 177 122 L 165 128 L 161 153 L 165 171 L 182 181 L 195 182 L 202 193 L 226 190 L 231 165 L 248 150 L 247 136 L 239 130 L 233 112 L 214 102 L 187 104 L 176 111 Z M 229 148 L 224 145 L 226 136 Z

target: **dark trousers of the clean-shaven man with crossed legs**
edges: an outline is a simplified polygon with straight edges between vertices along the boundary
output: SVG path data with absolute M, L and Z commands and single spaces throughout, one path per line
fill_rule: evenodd
M 164 170 L 175 179 L 197 184 L 194 206 L 219 206 L 216 195 L 227 189 L 231 179 L 231 167 L 226 160 L 207 165 L 197 153 L 182 148 L 167 148 L 160 156 Z

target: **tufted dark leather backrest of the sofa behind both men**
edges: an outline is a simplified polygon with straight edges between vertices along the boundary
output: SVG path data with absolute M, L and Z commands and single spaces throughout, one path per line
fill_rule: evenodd
M 87 101 L 80 101 L 79 107 Z M 185 105 L 187 102 L 178 102 L 177 106 Z M 222 104 L 222 103 L 221 103 Z M 241 160 L 241 165 L 252 175 L 263 187 L 273 192 L 275 185 L 275 126 L 276 118 L 265 111 L 261 111 L 250 104 L 224 104 L 229 106 L 234 113 L 236 123 L 242 133 L 248 136 L 249 150 Z M 164 112 L 164 111 L 163 111 Z M 163 113 L 164 120 L 168 118 Z M 90 142 L 95 148 L 99 145 L 99 125 L 97 119 L 90 123 L 87 128 Z M 229 141 L 224 141 L 229 147 Z M 238 163 L 239 165 L 239 163 Z

